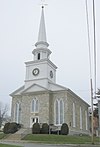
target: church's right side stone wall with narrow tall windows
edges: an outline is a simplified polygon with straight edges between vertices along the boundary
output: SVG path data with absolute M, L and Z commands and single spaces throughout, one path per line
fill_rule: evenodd
M 73 103 L 75 104 L 75 127 L 73 127 Z M 88 119 L 88 107 L 89 105 L 84 102 L 80 97 L 74 95 L 74 93 L 67 93 L 68 104 L 68 120 L 71 133 L 74 134 L 89 134 L 89 119 Z M 80 107 L 82 110 L 82 129 L 80 128 Z M 87 112 L 87 128 L 86 128 L 86 116 Z

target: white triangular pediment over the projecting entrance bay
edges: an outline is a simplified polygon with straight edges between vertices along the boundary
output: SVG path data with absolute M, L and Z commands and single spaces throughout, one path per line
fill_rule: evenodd
M 32 84 L 30 87 L 22 91 L 23 93 L 32 93 L 32 92 L 39 92 L 39 91 L 48 91 L 48 89 L 38 85 L 38 84 Z

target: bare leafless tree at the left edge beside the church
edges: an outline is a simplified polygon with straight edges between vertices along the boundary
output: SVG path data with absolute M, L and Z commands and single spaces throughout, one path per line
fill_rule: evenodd
M 7 112 L 8 112 L 8 105 L 5 104 L 3 105 L 1 102 L 0 102 L 0 128 L 2 126 L 2 123 L 3 123 L 3 120 L 6 118 L 7 116 Z

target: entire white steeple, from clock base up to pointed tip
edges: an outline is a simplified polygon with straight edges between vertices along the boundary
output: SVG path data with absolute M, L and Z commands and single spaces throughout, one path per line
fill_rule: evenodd
M 56 83 L 56 65 L 50 61 L 51 51 L 46 38 L 44 6 L 42 6 L 38 41 L 35 44 L 33 61 L 26 62 L 25 88 L 38 84 L 48 89 L 48 82 Z

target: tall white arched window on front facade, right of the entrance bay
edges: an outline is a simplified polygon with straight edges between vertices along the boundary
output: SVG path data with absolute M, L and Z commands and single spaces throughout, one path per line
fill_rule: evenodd
M 62 124 L 64 122 L 64 103 L 63 100 L 55 101 L 55 123 Z

